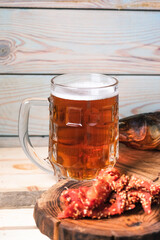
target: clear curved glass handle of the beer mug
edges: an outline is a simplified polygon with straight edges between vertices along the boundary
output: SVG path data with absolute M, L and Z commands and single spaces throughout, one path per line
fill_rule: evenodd
M 18 131 L 20 143 L 27 157 L 42 170 L 53 174 L 53 167 L 51 166 L 49 161 L 45 162 L 45 159 L 42 159 L 38 156 L 28 136 L 28 120 L 30 108 L 32 106 L 48 105 L 48 100 L 43 98 L 30 98 L 24 100 L 21 104 L 19 112 Z

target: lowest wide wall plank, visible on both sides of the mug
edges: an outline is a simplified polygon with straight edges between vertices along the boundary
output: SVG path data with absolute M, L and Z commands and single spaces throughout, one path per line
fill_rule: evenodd
M 120 118 L 160 110 L 160 76 L 116 76 L 119 80 Z M 30 97 L 48 98 L 52 76 L 0 77 L 0 134 L 18 135 L 18 114 L 21 102 Z M 29 132 L 48 135 L 48 108 L 31 109 Z M 2 139 L 1 139 L 2 140 Z M 6 146 L 4 139 L 4 145 Z M 17 146 L 12 139 L 8 146 Z M 37 144 L 37 143 L 36 143 Z

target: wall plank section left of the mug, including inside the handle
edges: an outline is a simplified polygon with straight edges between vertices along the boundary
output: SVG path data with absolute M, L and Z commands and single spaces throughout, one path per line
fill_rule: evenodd
M 18 116 L 22 101 L 30 97 L 47 98 L 50 94 L 51 78 L 51 76 L 0 77 L 1 135 L 18 135 Z M 29 132 L 33 135 L 48 134 L 48 108 L 33 107 L 30 116 Z

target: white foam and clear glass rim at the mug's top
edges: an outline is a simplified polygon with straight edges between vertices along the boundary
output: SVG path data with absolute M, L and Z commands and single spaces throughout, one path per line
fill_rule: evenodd
M 64 77 L 66 80 L 64 81 Z M 99 100 L 118 95 L 116 80 L 101 74 L 62 75 L 51 86 L 51 94 L 70 100 Z M 55 79 L 55 80 L 56 80 Z

